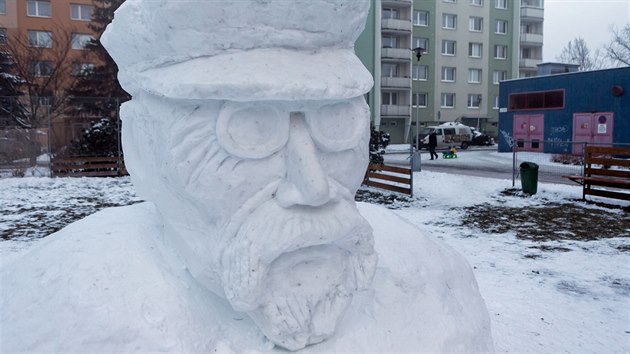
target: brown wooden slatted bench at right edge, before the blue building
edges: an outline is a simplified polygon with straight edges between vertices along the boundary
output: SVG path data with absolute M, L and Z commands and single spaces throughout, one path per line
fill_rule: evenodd
M 562 176 L 582 185 L 586 195 L 630 201 L 630 148 L 587 146 L 583 176 Z

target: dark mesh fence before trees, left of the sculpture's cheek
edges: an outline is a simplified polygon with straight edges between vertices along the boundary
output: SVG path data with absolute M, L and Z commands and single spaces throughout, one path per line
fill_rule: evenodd
M 120 100 L 0 97 L 0 177 L 121 176 Z M 70 101 L 71 103 L 68 103 Z

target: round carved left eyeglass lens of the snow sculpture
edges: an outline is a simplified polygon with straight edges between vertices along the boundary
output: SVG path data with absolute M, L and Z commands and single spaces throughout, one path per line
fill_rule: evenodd
M 227 103 L 217 121 L 217 139 L 230 154 L 260 159 L 282 149 L 289 137 L 289 117 L 262 103 Z

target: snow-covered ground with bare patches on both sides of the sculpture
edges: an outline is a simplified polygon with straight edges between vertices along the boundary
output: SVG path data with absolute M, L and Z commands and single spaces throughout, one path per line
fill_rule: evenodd
M 394 211 L 435 239 L 457 249 L 473 266 L 492 320 L 497 352 L 622 353 L 630 350 L 627 204 L 624 211 L 581 202 L 581 189 L 572 185 L 540 184 L 538 194 L 525 197 L 510 191 L 512 181 L 509 179 L 423 171 L 415 173 L 414 181 L 415 197 L 407 201 L 400 198 L 401 202 L 396 204 L 398 209 Z M 0 242 L 0 263 L 38 242 L 26 242 L 28 235 L 8 231 L 23 227 L 20 220 L 29 218 L 28 213 L 33 210 L 41 211 L 34 219 L 45 223 L 54 222 L 68 210 L 79 214 L 81 210 L 98 208 L 98 204 L 136 201 L 127 178 L 0 179 L 0 205 L 3 210 L 10 210 L 0 218 L 0 231 L 3 235 L 19 235 Z M 525 227 L 540 229 L 550 237 L 528 238 L 519 231 L 523 222 L 517 225 L 517 221 L 510 220 L 514 210 L 535 209 L 544 215 L 545 208 L 552 206 L 566 206 L 567 214 L 576 213 L 579 215 L 573 217 L 592 221 L 593 229 L 601 230 L 600 234 L 592 234 L 589 241 L 572 239 L 569 224 L 577 221 L 571 221 L 567 215 L 566 224 L 558 223 L 552 231 L 549 225 L 543 229 L 539 221 L 532 219 Z M 578 209 L 569 210 L 568 206 Z M 514 228 L 489 231 L 487 225 L 471 222 L 469 216 L 475 208 L 494 210 L 497 224 L 513 223 Z M 512 214 L 508 214 L 508 210 Z M 602 214 L 612 215 L 621 231 L 611 234 L 609 229 L 598 229 L 596 223 L 609 222 L 594 217 Z M 33 227 L 32 232 L 36 228 Z M 551 237 L 563 234 L 568 237 Z M 540 232 L 537 235 L 540 236 Z

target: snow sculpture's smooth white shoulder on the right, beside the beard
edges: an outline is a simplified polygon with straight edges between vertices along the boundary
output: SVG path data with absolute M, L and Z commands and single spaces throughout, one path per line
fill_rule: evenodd
M 353 302 L 348 327 L 324 351 L 492 352 L 490 318 L 466 259 L 391 210 L 357 206 L 379 256 L 373 291 Z M 384 332 L 387 341 L 348 341 Z

